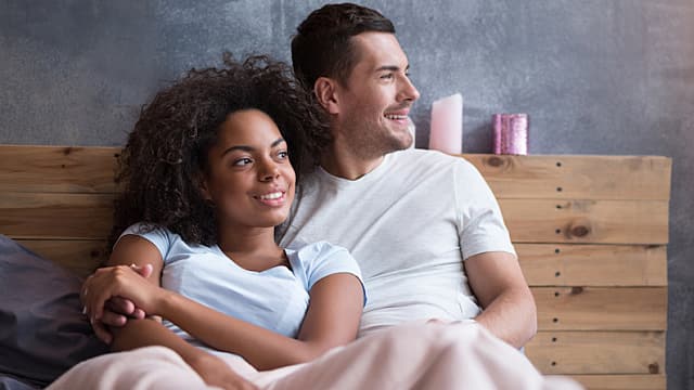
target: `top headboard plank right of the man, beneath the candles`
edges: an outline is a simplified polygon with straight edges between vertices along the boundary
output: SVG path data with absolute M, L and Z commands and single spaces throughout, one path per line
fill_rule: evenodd
M 499 198 L 670 198 L 672 160 L 660 156 L 465 154 Z

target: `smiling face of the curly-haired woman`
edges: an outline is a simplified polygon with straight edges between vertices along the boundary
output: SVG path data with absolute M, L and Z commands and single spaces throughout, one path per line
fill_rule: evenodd
M 296 176 L 286 142 L 267 114 L 255 108 L 230 114 L 207 161 L 202 190 L 221 224 L 271 227 L 286 219 Z

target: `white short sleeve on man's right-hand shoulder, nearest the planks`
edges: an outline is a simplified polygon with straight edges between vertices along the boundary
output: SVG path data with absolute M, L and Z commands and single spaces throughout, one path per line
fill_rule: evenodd
M 461 159 L 453 178 L 463 259 L 488 251 L 515 256 L 497 198 L 479 171 Z

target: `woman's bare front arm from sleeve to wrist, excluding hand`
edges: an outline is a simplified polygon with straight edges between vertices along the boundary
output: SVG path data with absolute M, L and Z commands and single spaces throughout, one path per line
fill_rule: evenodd
M 192 304 L 190 304 L 192 303 Z M 185 310 L 177 308 L 185 307 Z M 359 280 L 347 273 L 323 277 L 310 290 L 298 339 L 285 337 L 171 294 L 160 315 L 219 350 L 242 355 L 257 369 L 313 360 L 357 336 L 363 308 Z

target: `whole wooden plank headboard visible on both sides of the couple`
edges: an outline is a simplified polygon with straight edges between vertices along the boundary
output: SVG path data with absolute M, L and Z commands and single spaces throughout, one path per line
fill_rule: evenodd
M 116 147 L 0 145 L 0 233 L 79 275 L 104 257 Z M 538 304 L 526 353 L 590 389 L 665 389 L 671 160 L 464 155 Z

